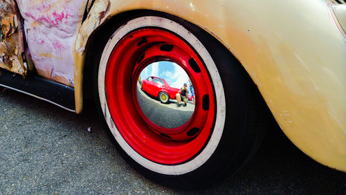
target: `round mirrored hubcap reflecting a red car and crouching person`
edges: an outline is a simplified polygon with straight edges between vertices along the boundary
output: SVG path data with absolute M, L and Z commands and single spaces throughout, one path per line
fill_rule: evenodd
M 147 119 L 166 129 L 189 122 L 195 108 L 194 91 L 190 77 L 181 66 L 174 62 L 154 62 L 143 69 L 139 80 L 137 86 L 142 90 L 137 89 L 137 99 Z

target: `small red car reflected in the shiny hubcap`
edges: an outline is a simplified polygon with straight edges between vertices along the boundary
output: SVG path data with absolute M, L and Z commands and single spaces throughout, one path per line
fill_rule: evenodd
M 175 95 L 179 91 L 179 89 L 171 87 L 165 80 L 153 76 L 143 80 L 141 88 L 149 95 L 158 97 L 162 103 L 167 103 L 170 99 L 175 100 Z

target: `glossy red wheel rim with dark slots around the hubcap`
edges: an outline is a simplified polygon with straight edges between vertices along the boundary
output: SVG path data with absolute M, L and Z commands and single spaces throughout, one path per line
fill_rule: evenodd
M 145 66 L 157 61 L 179 64 L 194 84 L 196 106 L 181 127 L 166 129 L 141 111 L 136 83 Z M 185 41 L 161 29 L 135 30 L 113 48 L 105 75 L 107 104 L 125 141 L 155 163 L 175 165 L 193 158 L 210 137 L 215 118 L 215 95 L 203 62 Z

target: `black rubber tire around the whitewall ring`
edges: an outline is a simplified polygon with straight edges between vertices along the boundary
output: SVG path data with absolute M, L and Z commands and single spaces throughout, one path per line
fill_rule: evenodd
M 257 87 L 253 84 L 246 71 L 244 71 L 242 64 L 217 39 L 198 26 L 165 13 L 144 11 L 131 12 L 131 15 L 127 15 L 127 17 L 115 20 L 116 25 L 111 26 L 119 28 L 123 24 L 127 24 L 131 19 L 147 16 L 170 19 L 183 26 L 197 37 L 208 50 L 208 53 L 210 53 L 212 60 L 217 66 L 222 85 L 226 86 L 223 88 L 226 101 L 226 118 L 221 139 L 217 142 L 217 147 L 208 160 L 196 169 L 183 174 L 163 174 L 158 171 L 152 171 L 127 154 L 127 151 L 114 138 L 109 130 L 109 124 L 107 125 L 107 121 L 104 120 L 104 111 L 101 107 L 100 97 L 95 95 L 95 102 L 101 118 L 107 126 L 107 132 L 122 157 L 141 174 L 157 183 L 176 189 L 205 189 L 221 183 L 221 181 L 237 173 L 253 156 L 259 146 L 266 131 L 266 118 L 268 116 L 266 104 L 262 100 Z M 116 28 L 113 29 L 113 32 L 115 31 Z M 111 35 L 111 33 L 108 34 L 108 37 L 110 38 Z M 100 47 L 104 48 L 107 41 L 104 40 Z M 100 92 L 98 88 L 100 57 L 95 58 L 96 65 L 93 68 L 94 94 Z

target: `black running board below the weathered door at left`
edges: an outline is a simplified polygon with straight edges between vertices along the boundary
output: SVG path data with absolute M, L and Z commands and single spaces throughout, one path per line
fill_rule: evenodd
M 75 91 L 71 86 L 46 80 L 38 75 L 29 75 L 24 80 L 21 75 L 3 69 L 0 69 L 0 86 L 31 95 L 75 113 Z

